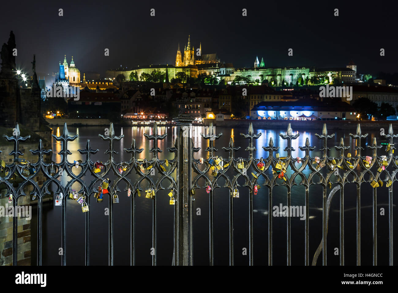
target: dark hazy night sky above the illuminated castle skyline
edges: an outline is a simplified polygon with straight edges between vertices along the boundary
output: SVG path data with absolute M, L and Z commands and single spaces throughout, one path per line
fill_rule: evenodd
M 64 54 L 68 63 L 74 56 L 81 73 L 101 77 L 120 65 L 174 65 L 178 42 L 182 51 L 189 34 L 195 49 L 201 42 L 202 54 L 217 53 L 235 67 L 253 66 L 258 56 L 265 67 L 345 67 L 352 59 L 359 73 L 396 72 L 398 4 L 347 2 L 5 1 L 0 43 L 13 30 L 17 67 L 30 72 L 36 54 L 39 75 L 57 72 Z

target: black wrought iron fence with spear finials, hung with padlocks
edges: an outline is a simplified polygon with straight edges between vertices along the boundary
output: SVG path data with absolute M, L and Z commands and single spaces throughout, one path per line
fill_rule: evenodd
M 309 187 L 311 185 L 321 185 L 323 189 L 322 199 L 322 241 L 316 250 L 314 257 L 312 258 L 312 265 L 316 264 L 319 254 L 322 252 L 322 264 L 327 264 L 326 258 L 326 235 L 328 232 L 328 218 L 330 203 L 334 195 L 339 191 L 340 195 L 340 218 L 339 218 L 339 242 L 340 242 L 340 254 L 339 262 L 340 265 L 344 265 L 344 185 L 348 183 L 355 183 L 357 190 L 357 207 L 356 207 L 356 239 L 357 239 L 357 265 L 361 264 L 361 197 L 360 189 L 361 183 L 370 183 L 373 187 L 373 265 L 377 265 L 377 187 L 382 186 L 384 183 L 388 187 L 388 223 L 389 223 L 389 264 L 393 264 L 393 213 L 392 213 L 392 183 L 397 181 L 396 173 L 398 171 L 398 156 L 394 156 L 394 144 L 393 138 L 398 135 L 393 134 L 392 125 L 388 130 L 388 134 L 382 134 L 388 140 L 388 143 L 384 143 L 386 147 L 383 155 L 378 154 L 378 149 L 383 147 L 377 145 L 376 139 L 373 140 L 373 144 L 368 146 L 373 151 L 373 155 L 366 156 L 364 148 L 361 142 L 367 137 L 368 134 L 362 134 L 361 128 L 358 124 L 356 134 L 349 134 L 356 143 L 356 147 L 353 149 L 354 155 L 347 153 L 349 146 L 344 146 L 343 138 L 340 140 L 338 146 L 334 146 L 339 151 L 338 157 L 328 156 L 328 140 L 334 137 L 334 134 L 328 135 L 326 124 L 322 130 L 322 134 L 315 134 L 315 136 L 322 141 L 322 157 L 310 157 L 310 151 L 313 151 L 315 147 L 309 145 L 308 138 L 306 138 L 305 145 L 299 147 L 301 151 L 304 151 L 304 157 L 292 157 L 292 151 L 295 151 L 292 147 L 292 140 L 297 139 L 299 134 L 293 135 L 291 126 L 289 124 L 286 134 L 279 134 L 283 140 L 286 140 L 287 155 L 280 157 L 277 152 L 279 147 L 274 147 L 273 140 L 270 138 L 269 145 L 263 146 L 264 151 L 269 153 L 268 157 L 256 158 L 254 153 L 256 148 L 254 147 L 254 140 L 261 136 L 261 133 L 255 134 L 252 124 L 248 129 L 248 134 L 240 134 L 248 140 L 248 157 L 237 158 L 236 151 L 240 147 L 234 146 L 232 138 L 230 139 L 229 146 L 222 147 L 224 151 L 228 153 L 227 159 L 218 157 L 216 152 L 218 149 L 215 147 L 215 142 L 222 136 L 222 134 L 215 134 L 212 124 L 209 127 L 208 134 L 201 134 L 203 139 L 209 140 L 209 147 L 206 152 L 209 153 L 207 158 L 196 159 L 194 153 L 198 152 L 200 148 L 193 147 L 192 139 L 190 137 L 192 129 L 193 118 L 188 115 L 181 114 L 178 118 L 174 119 L 178 126 L 178 136 L 174 147 L 168 148 L 168 151 L 174 153 L 174 158 L 167 160 L 161 160 L 158 157 L 158 153 L 162 150 L 158 147 L 160 140 L 166 138 L 166 134 L 158 134 L 156 124 L 153 126 L 153 133 L 151 135 L 144 134 L 146 139 L 153 141 L 153 147 L 150 149 L 152 158 L 139 159 L 137 154 L 141 153 L 143 149 L 137 148 L 135 139 L 131 147 L 124 148 L 126 153 L 131 154 L 131 158 L 126 162 L 115 161 L 114 155 L 117 154 L 115 151 L 115 143 L 123 138 L 121 136 L 115 136 L 113 124 L 109 127 L 108 135 L 101 135 L 102 140 L 109 142 L 109 147 L 105 154 L 108 154 L 109 159 L 105 163 L 93 162 L 91 157 L 93 154 L 98 152 L 98 149 L 92 149 L 90 140 L 87 141 L 85 149 L 78 149 L 78 151 L 86 155 L 84 161 L 74 161 L 70 163 L 68 161 L 68 155 L 72 155 L 68 150 L 68 142 L 75 140 L 78 136 L 69 136 L 66 123 L 61 136 L 53 135 L 55 140 L 62 142 L 62 150 L 59 155 L 62 155 L 62 159 L 59 163 L 49 163 L 43 158 L 44 155 L 48 155 L 52 150 L 46 150 L 43 148 L 42 141 L 40 140 L 39 146 L 36 150 L 30 150 L 33 155 L 38 156 L 38 160 L 35 163 L 29 163 L 20 156 L 23 153 L 19 150 L 20 142 L 24 142 L 29 138 L 21 137 L 18 124 L 16 125 L 14 136 L 3 135 L 6 140 L 14 143 L 14 150 L 10 155 L 14 156 L 14 163 L 5 165 L 2 167 L 4 171 L 4 177 L 0 177 L 0 184 L 5 184 L 8 189 L 8 193 L 12 195 L 12 204 L 14 209 L 18 206 L 18 199 L 23 196 L 27 196 L 24 192 L 26 185 L 31 185 L 33 191 L 30 195 L 37 197 L 37 265 L 42 264 L 42 199 L 46 194 L 51 193 L 49 186 L 55 184 L 57 191 L 55 194 L 59 195 L 62 193 L 65 196 L 65 200 L 61 199 L 60 205 L 62 205 L 62 265 L 66 265 L 66 198 L 75 199 L 82 204 L 82 210 L 85 212 L 85 264 L 90 264 L 90 201 L 94 198 L 94 195 L 98 200 L 106 197 L 108 193 L 109 202 L 109 265 L 113 265 L 113 204 L 118 200 L 114 199 L 118 192 L 121 192 L 120 183 L 126 183 L 124 191 L 131 193 L 131 265 L 135 264 L 135 197 L 143 193 L 146 197 L 151 198 L 153 201 L 153 214 L 152 214 L 152 245 L 155 249 L 155 253 L 152 256 L 152 265 L 156 265 L 156 193 L 160 190 L 170 190 L 169 196 L 172 197 L 170 201 L 174 202 L 174 256 L 173 264 L 175 265 L 192 265 L 193 264 L 193 201 L 195 200 L 195 190 L 198 188 L 206 188 L 209 194 L 209 262 L 210 265 L 214 263 L 214 232 L 213 232 L 213 191 L 217 188 L 228 188 L 230 191 L 229 200 L 229 263 L 234 264 L 234 215 L 233 215 L 233 204 L 234 198 L 238 197 L 238 191 L 236 188 L 240 186 L 238 179 L 243 177 L 245 179 L 244 187 L 249 190 L 249 264 L 253 265 L 253 197 L 256 195 L 260 185 L 258 184 L 259 177 L 263 177 L 264 183 L 261 186 L 268 188 L 268 264 L 273 264 L 273 216 L 272 210 L 272 198 L 273 198 L 273 187 L 283 185 L 287 187 L 287 206 L 291 206 L 291 189 L 294 185 L 303 185 L 305 187 L 305 205 L 309 206 Z M 27 165 L 29 168 L 33 168 L 33 172 L 26 172 Z M 79 165 L 81 171 L 75 175 L 72 172 L 72 167 Z M 199 167 L 202 165 L 203 167 Z M 370 169 L 376 166 L 377 171 L 371 171 Z M 290 167 L 290 168 L 289 168 Z M 308 167 L 311 173 L 306 177 L 303 170 Z M 103 168 L 104 171 L 101 175 L 98 174 L 98 169 Z M 157 181 L 154 181 L 154 177 L 149 176 L 150 172 L 156 169 L 160 176 L 157 177 Z M 388 170 L 389 169 L 389 170 Z M 61 170 L 61 171 L 59 171 Z M 250 171 L 253 172 L 250 174 Z M 265 172 L 272 170 L 272 175 L 269 176 Z M 39 186 L 35 182 L 34 178 L 42 172 L 47 180 L 42 186 Z M 62 172 L 66 171 L 67 175 L 71 177 L 71 180 L 63 186 L 58 178 L 62 175 Z M 139 179 L 133 181 L 130 177 L 133 171 L 139 175 Z M 82 177 L 89 172 L 94 179 L 90 183 L 86 183 Z M 233 176 L 228 175 L 233 172 Z M 228 173 L 228 174 L 227 174 Z M 289 174 L 290 173 L 290 174 Z M 380 180 L 380 174 L 384 173 L 385 178 Z M 116 179 L 113 184 L 108 184 L 107 176 L 114 174 Z M 365 179 L 365 175 L 369 176 Z M 297 183 L 295 178 L 299 176 L 301 182 Z M 352 179 L 349 179 L 349 176 Z M 13 186 L 13 180 L 15 177 L 22 179 L 18 187 Z M 219 179 L 225 180 L 224 184 L 219 182 Z M 204 179 L 205 185 L 200 186 L 199 180 Z M 318 180 L 317 180 L 318 179 Z M 149 182 L 150 187 L 143 189 L 140 183 L 146 180 Z M 168 182 L 168 186 L 164 186 L 164 181 Z M 72 191 L 71 187 L 74 183 L 78 182 L 82 189 L 79 191 Z M 97 186 L 100 186 L 96 188 Z M 327 190 L 330 189 L 328 195 Z M 87 195 L 87 197 L 85 197 Z M 87 198 L 87 200 L 86 200 Z M 310 265 L 310 254 L 309 254 L 309 211 L 306 209 L 305 216 L 305 265 Z M 13 218 L 13 265 L 17 264 L 18 245 L 17 245 L 17 227 L 18 217 Z M 291 265 L 291 217 L 287 217 L 287 265 Z

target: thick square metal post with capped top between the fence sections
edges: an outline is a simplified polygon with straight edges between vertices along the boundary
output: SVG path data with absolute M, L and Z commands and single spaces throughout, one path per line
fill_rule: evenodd
M 174 210 L 174 264 L 192 265 L 192 140 L 194 118 L 179 114 L 178 126 L 177 202 Z

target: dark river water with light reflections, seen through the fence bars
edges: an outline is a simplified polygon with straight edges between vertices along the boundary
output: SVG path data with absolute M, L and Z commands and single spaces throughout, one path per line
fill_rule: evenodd
M 194 126 L 194 131 L 201 132 L 199 126 Z M 104 133 L 103 127 L 68 127 L 69 135 L 78 134 L 78 138 L 73 142 L 68 143 L 68 149 L 72 155 L 68 156 L 68 160 L 82 159 L 85 160 L 85 155 L 81 155 L 77 150 L 84 149 L 87 140 L 90 140 L 92 149 L 99 149 L 96 154 L 92 155 L 92 161 L 106 161 L 107 154 L 104 154 L 108 148 L 108 142 L 101 140 L 98 134 Z M 300 136 L 293 140 L 292 147 L 296 150 L 293 152 L 293 157 L 304 157 L 304 152 L 300 151 L 299 146 L 304 146 L 306 138 L 309 139 L 310 146 L 315 146 L 316 149 L 310 152 L 311 156 L 322 156 L 319 149 L 322 147 L 321 140 L 314 136 L 313 131 L 305 131 L 304 129 L 293 130 L 293 134 L 299 133 Z M 160 159 L 172 159 L 174 153 L 170 153 L 167 147 L 173 147 L 177 135 L 175 127 L 159 127 L 160 134 L 167 133 L 167 137 L 160 141 L 159 147 L 163 150 L 159 154 Z M 216 133 L 222 132 L 220 139 L 215 141 L 215 146 L 218 149 L 217 155 L 224 158 L 228 157 L 228 153 L 221 147 L 228 147 L 230 138 L 234 140 L 235 146 L 240 146 L 236 157 L 247 157 L 248 151 L 245 148 L 248 146 L 248 140 L 240 136 L 241 132 L 247 133 L 247 129 L 243 128 L 224 128 L 217 127 Z M 255 132 L 261 132 L 259 139 L 254 141 L 256 157 L 267 157 L 268 152 L 262 149 L 263 146 L 268 146 L 269 138 L 273 138 L 275 147 L 280 147 L 279 153 L 281 157 L 285 156 L 286 152 L 283 149 L 286 147 L 286 141 L 283 140 L 279 133 L 286 134 L 286 130 L 269 130 L 269 129 L 255 129 Z M 317 133 L 320 134 L 322 130 Z M 366 132 L 366 130 L 363 130 Z M 133 138 L 137 142 L 137 147 L 143 148 L 144 151 L 139 157 L 152 157 L 149 153 L 153 142 L 148 142 L 143 134 L 152 134 L 152 127 L 115 127 L 115 134 L 119 136 L 124 135 L 120 142 L 115 143 L 115 150 L 119 152 L 115 155 L 116 161 L 128 161 L 131 157 L 129 153 L 123 151 L 123 148 L 131 146 Z M 329 131 L 329 134 L 332 134 Z M 61 128 L 54 128 L 53 134 L 62 134 Z M 371 144 L 373 137 L 376 137 L 378 143 L 383 142 L 380 139 L 378 132 L 369 132 L 369 136 L 365 140 L 367 144 Z M 336 132 L 336 135 L 331 140 L 328 140 L 330 156 L 337 156 L 338 152 L 333 146 L 339 144 L 340 139 L 344 139 L 345 146 L 350 146 L 349 152 L 353 155 L 353 143 L 355 142 L 349 136 L 349 132 Z M 194 147 L 201 147 L 201 150 L 195 154 L 196 158 L 207 157 L 206 147 L 209 145 L 208 140 L 201 138 L 193 138 Z M 61 156 L 58 152 L 61 150 L 61 143 L 53 140 L 53 160 L 60 162 Z M 366 149 L 368 149 L 366 147 Z M 348 151 L 347 151 L 348 152 Z M 384 152 L 380 151 L 380 152 Z M 371 150 L 367 150 L 367 154 L 371 155 Z M 75 168 L 72 168 L 75 169 Z M 308 167 L 304 170 L 304 174 L 308 176 Z M 249 173 L 248 173 L 249 174 Z M 267 173 L 271 174 L 270 171 Z M 251 176 L 250 176 L 251 177 Z M 91 181 L 92 177 L 84 177 Z M 62 182 L 65 184 L 70 178 L 64 173 Z M 203 181 L 199 181 L 204 185 Z M 260 185 L 264 182 L 259 179 Z M 296 181 L 299 182 L 298 180 Z M 243 185 L 244 180 L 239 180 L 238 183 Z M 145 185 L 142 185 L 145 187 Z M 164 187 L 168 184 L 165 182 Z M 74 185 L 74 189 L 78 189 L 78 184 Z M 119 185 L 120 188 L 125 187 L 124 183 Z M 394 186 L 395 189 L 397 188 Z M 239 187 L 240 197 L 234 199 L 234 261 L 236 265 L 247 265 L 249 263 L 249 256 L 244 254 L 245 248 L 249 248 L 249 197 L 248 189 L 246 187 Z M 158 265 L 171 265 L 173 256 L 173 206 L 169 205 L 169 197 L 167 191 L 162 191 L 157 194 L 157 263 Z M 363 183 L 361 186 L 361 264 L 371 265 L 373 252 L 373 233 L 372 233 L 372 187 L 369 183 Z M 121 192 L 119 194 L 119 204 L 114 204 L 114 264 L 115 265 L 129 265 L 130 264 L 130 216 L 131 216 L 131 197 L 127 197 L 127 193 Z M 379 187 L 377 193 L 378 201 L 378 264 L 388 264 L 388 189 L 386 187 Z M 286 187 L 274 187 L 273 190 L 273 206 L 287 205 L 287 189 Z M 356 264 L 356 189 L 355 184 L 345 185 L 345 264 Z M 254 196 L 254 264 L 266 265 L 268 263 L 268 191 L 267 187 L 262 187 Z M 291 205 L 296 206 L 305 205 L 304 201 L 304 187 L 294 186 L 291 193 Z M 90 212 L 90 264 L 92 265 L 107 265 L 108 264 L 108 216 L 105 215 L 105 208 L 108 206 L 107 197 L 102 203 L 96 203 L 91 200 Z M 193 260 L 195 265 L 209 264 L 209 197 L 204 189 L 197 190 L 194 202 L 195 210 L 200 208 L 200 215 L 194 214 L 193 223 Z M 314 252 L 322 239 L 322 187 L 320 185 L 311 185 L 310 187 L 310 263 Z M 380 215 L 380 208 L 384 208 L 384 215 Z M 216 189 L 214 191 L 214 259 L 215 265 L 228 265 L 229 263 L 229 192 L 228 189 Z M 394 205 L 394 212 L 397 208 Z M 43 265 L 60 265 L 61 257 L 59 255 L 59 248 L 61 247 L 61 215 L 62 208 L 54 206 L 53 203 L 43 203 Z M 395 217 L 397 218 L 397 217 Z M 85 216 L 81 210 L 81 206 L 73 201 L 68 201 L 66 214 L 66 263 L 68 265 L 84 265 L 84 221 Z M 292 247 L 292 264 L 303 265 L 305 254 L 305 221 L 298 217 L 291 220 L 291 247 Z M 397 225 L 397 220 L 394 220 Z M 36 241 L 36 227 L 37 217 L 32 218 L 32 251 Z M 286 264 L 286 247 L 287 247 L 287 218 L 274 217 L 273 218 L 273 264 Z M 336 194 L 332 201 L 328 241 L 327 241 L 327 257 L 328 265 L 338 265 L 339 256 L 336 255 L 336 248 L 339 248 L 339 193 Z M 152 200 L 146 199 L 144 196 L 136 197 L 136 264 L 137 265 L 151 265 L 152 264 Z M 396 252 L 396 251 L 395 251 Z M 32 264 L 35 264 L 35 255 L 32 256 Z M 318 259 L 318 264 L 322 264 L 322 254 Z

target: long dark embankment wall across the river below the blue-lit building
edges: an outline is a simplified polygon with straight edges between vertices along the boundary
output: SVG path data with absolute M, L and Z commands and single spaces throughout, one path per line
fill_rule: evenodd
M 225 119 L 223 121 L 215 121 L 215 119 L 205 119 L 205 125 L 209 126 L 213 122 L 213 126 L 248 128 L 250 122 L 254 128 L 267 129 L 287 129 L 287 125 L 291 123 L 293 130 L 322 130 L 323 124 L 326 123 L 328 130 L 356 130 L 358 123 L 361 124 L 362 130 L 380 130 L 384 128 L 387 132 L 388 127 L 392 124 L 392 128 L 398 130 L 398 121 L 351 121 L 351 120 L 251 120 L 251 119 Z

